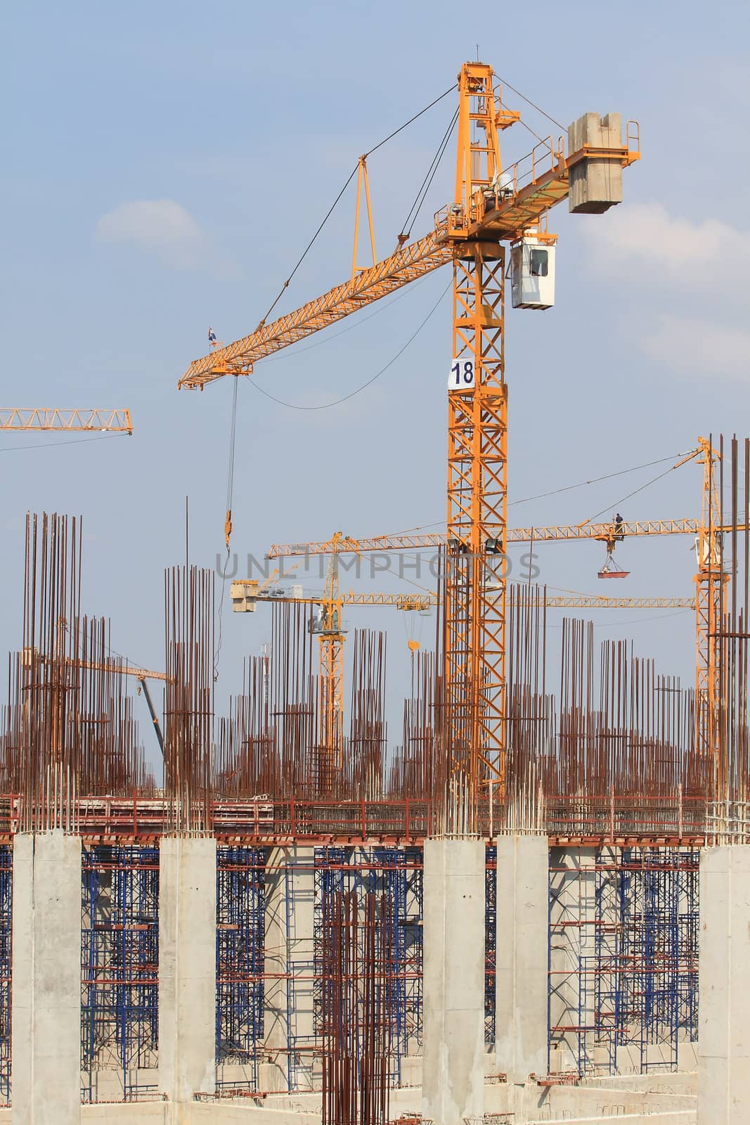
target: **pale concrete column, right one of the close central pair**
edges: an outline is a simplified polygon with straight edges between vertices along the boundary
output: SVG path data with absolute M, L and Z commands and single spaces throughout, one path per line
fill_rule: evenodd
M 549 845 L 497 840 L 496 1065 L 508 1083 L 548 1070 Z

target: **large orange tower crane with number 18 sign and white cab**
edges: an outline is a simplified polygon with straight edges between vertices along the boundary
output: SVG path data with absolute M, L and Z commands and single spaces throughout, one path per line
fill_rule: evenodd
M 204 389 L 449 262 L 453 266 L 453 348 L 449 376 L 448 534 L 459 549 L 445 578 L 445 738 L 451 771 L 467 796 L 471 831 L 479 788 L 505 786 L 505 597 L 488 580 L 487 544 L 506 548 L 507 386 L 505 244 L 510 245 L 513 304 L 552 304 L 554 236 L 546 214 L 569 200 L 575 213 L 600 214 L 622 198 L 622 169 L 640 158 L 639 130 L 623 143 L 618 115 L 586 114 L 562 137 L 540 143 L 504 168 L 498 136 L 521 115 L 503 102 L 491 66 L 467 62 L 458 76 L 458 146 L 452 200 L 432 231 L 390 256 L 353 270 L 345 282 L 250 335 L 195 360 L 179 380 Z M 500 585 L 504 579 L 499 578 Z M 491 595 L 488 593 L 491 585 Z M 498 792 L 498 789 L 496 789 Z

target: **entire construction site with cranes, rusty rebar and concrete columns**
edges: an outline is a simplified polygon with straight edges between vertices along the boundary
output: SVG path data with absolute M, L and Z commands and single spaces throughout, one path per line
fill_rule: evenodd
M 750 441 L 732 417 L 685 436 L 666 466 L 690 482 L 679 519 L 514 525 L 506 324 L 554 306 L 555 212 L 609 222 L 648 145 L 626 107 L 584 105 L 504 160 L 525 99 L 489 63 L 452 79 L 414 98 L 416 117 L 448 115 L 417 196 L 436 178 L 448 202 L 426 233 L 417 206 L 376 253 L 368 152 L 344 184 L 351 276 L 298 307 L 287 281 L 249 335 L 209 328 L 181 377 L 175 357 L 180 402 L 200 413 L 220 384 L 234 405 L 225 554 L 196 561 L 186 507 L 155 579 L 163 663 L 118 654 L 116 583 L 111 621 L 90 614 L 85 512 L 29 512 L 7 538 L 24 579 L 6 591 L 22 631 L 0 732 L 0 1123 L 750 1122 Z M 296 541 L 291 505 L 265 575 L 231 573 L 237 388 L 436 270 L 452 273 L 431 375 L 444 524 Z M 126 408 L 0 416 L 111 440 L 138 425 Z M 625 552 L 658 537 L 694 550 L 690 588 L 617 596 Z M 582 540 L 604 594 L 508 573 L 513 544 Z M 353 559 L 418 554 L 418 585 L 344 582 Z M 387 630 L 349 627 L 365 605 L 425 622 L 396 698 Z M 693 675 L 602 639 L 591 614 L 611 608 L 689 611 Z M 224 698 L 242 614 L 268 644 Z

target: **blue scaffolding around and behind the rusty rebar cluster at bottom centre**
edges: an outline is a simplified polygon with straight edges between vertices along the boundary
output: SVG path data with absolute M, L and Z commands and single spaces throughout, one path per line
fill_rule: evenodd
M 325 906 L 334 896 L 356 892 L 388 900 L 389 1078 L 401 1083 L 401 1063 L 422 1045 L 422 902 L 423 853 L 407 847 L 325 847 L 315 850 L 314 1010 L 316 1035 L 322 1030 L 327 981 L 324 964 Z M 386 938 L 383 938 L 386 939 Z

